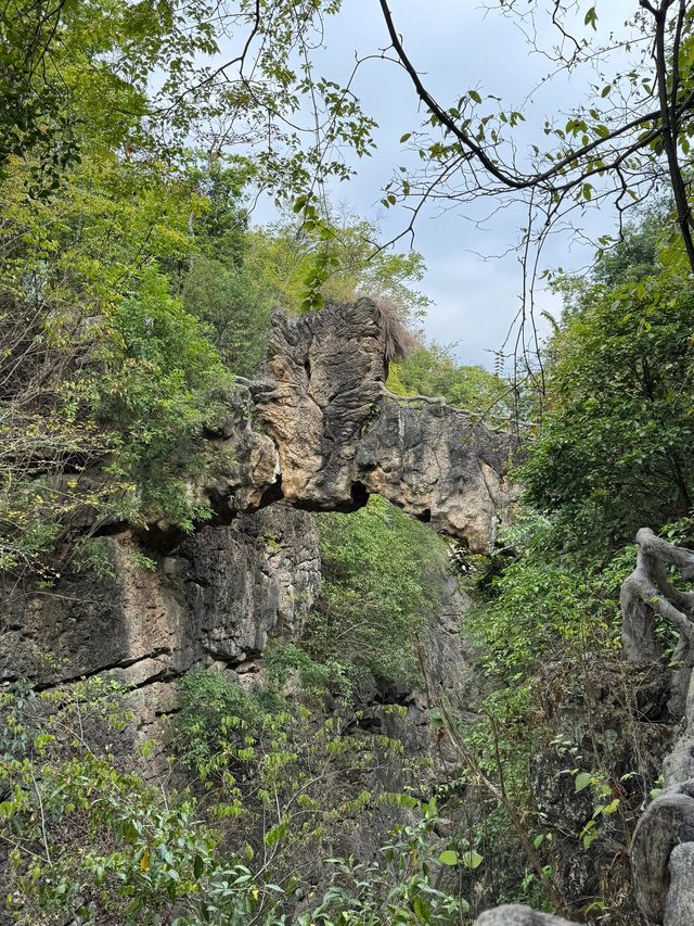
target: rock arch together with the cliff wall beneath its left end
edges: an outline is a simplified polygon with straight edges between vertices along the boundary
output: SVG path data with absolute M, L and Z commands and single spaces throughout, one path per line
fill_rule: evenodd
M 349 511 L 380 493 L 488 549 L 513 502 L 515 439 L 440 399 L 390 395 L 387 351 L 388 320 L 369 300 L 300 318 L 277 313 L 261 378 L 240 380 L 226 420 L 204 435 L 208 465 L 188 492 L 211 507 L 211 520 L 188 536 L 162 522 L 105 523 L 99 573 L 73 559 L 50 594 L 0 588 L 0 684 L 26 677 L 48 688 L 108 673 L 130 688 L 127 734 L 137 746 L 157 738 L 190 669 L 252 684 L 270 637 L 300 638 L 321 583 L 306 511 Z M 88 508 L 82 527 L 92 527 Z M 156 569 L 142 567 L 142 551 Z M 452 688 L 470 665 L 451 618 L 462 605 L 449 592 L 432 658 Z

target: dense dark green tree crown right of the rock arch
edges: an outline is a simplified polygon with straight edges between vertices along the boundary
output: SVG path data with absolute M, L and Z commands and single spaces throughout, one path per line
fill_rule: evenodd
M 692 294 L 665 272 L 594 283 L 552 342 L 550 414 L 523 479 L 575 543 L 630 540 L 692 506 Z

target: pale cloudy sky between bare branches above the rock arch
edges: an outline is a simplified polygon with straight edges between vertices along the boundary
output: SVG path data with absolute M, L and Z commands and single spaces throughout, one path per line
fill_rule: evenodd
M 588 9 L 588 2 L 579 4 Z M 609 29 L 620 31 L 624 20 L 637 7 L 635 0 L 597 3 L 599 37 Z M 398 30 L 425 84 L 448 105 L 471 88 L 503 98 L 506 107 L 522 109 L 528 120 L 517 132 L 520 148 L 530 140 L 541 143 L 544 116 L 567 112 L 584 100 L 587 75 L 542 85 L 535 92 L 551 64 L 532 54 L 517 27 L 498 12 L 486 12 L 477 2 L 466 0 L 394 0 L 391 4 Z M 583 26 L 579 31 L 591 37 Z M 540 41 L 551 45 L 557 34 L 547 20 L 539 31 Z M 327 22 L 325 49 L 316 55 L 316 73 L 344 79 L 351 69 L 355 52 L 376 52 L 388 45 L 385 25 L 376 0 L 344 0 L 343 11 Z M 621 62 L 624 64 L 624 60 Z M 406 75 L 395 65 L 373 61 L 360 71 L 355 90 L 364 110 L 378 122 L 377 152 L 371 158 L 355 162 L 357 176 L 333 193 L 356 213 L 380 223 L 389 238 L 407 225 L 399 208 L 385 211 L 380 205 L 382 186 L 398 165 L 412 164 L 413 155 L 399 143 L 400 137 L 419 125 L 417 100 Z M 531 94 L 528 99 L 528 94 Z M 442 343 L 458 342 L 457 354 L 463 363 L 491 366 L 511 319 L 518 307 L 522 275 L 517 256 L 485 261 L 480 254 L 501 254 L 517 241 L 523 224 L 522 210 L 504 207 L 484 228 L 479 221 L 494 203 L 479 202 L 460 211 L 441 214 L 425 211 L 416 226 L 415 248 L 427 266 L 423 291 L 434 301 L 425 324 L 426 333 Z M 586 217 L 595 236 L 614 228 L 614 215 L 605 206 Z M 402 246 L 406 246 L 404 244 Z M 579 268 L 590 262 L 592 249 L 570 233 L 557 236 L 548 246 L 543 266 Z M 538 292 L 539 308 L 556 313 L 557 300 Z

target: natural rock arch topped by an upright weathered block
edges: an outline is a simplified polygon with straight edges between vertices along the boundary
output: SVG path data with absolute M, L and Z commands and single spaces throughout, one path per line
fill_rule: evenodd
M 198 487 L 220 516 L 278 498 L 349 511 L 377 493 L 473 550 L 489 548 L 513 500 L 515 439 L 439 399 L 387 393 L 385 339 L 370 300 L 275 315 L 267 378 L 210 437 L 210 454 L 232 460 Z

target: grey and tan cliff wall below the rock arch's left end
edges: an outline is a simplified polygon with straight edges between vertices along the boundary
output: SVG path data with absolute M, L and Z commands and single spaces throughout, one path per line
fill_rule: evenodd
M 106 674 L 131 689 L 133 722 L 121 748 L 165 739 L 176 680 L 195 667 L 258 671 L 273 635 L 295 639 L 320 589 L 311 517 L 284 503 L 207 527 L 144 568 L 128 534 L 99 541 L 110 574 L 68 572 L 50 593 L 7 595 L 0 684 L 26 677 L 46 688 Z M 156 757 L 147 773 L 163 769 Z

